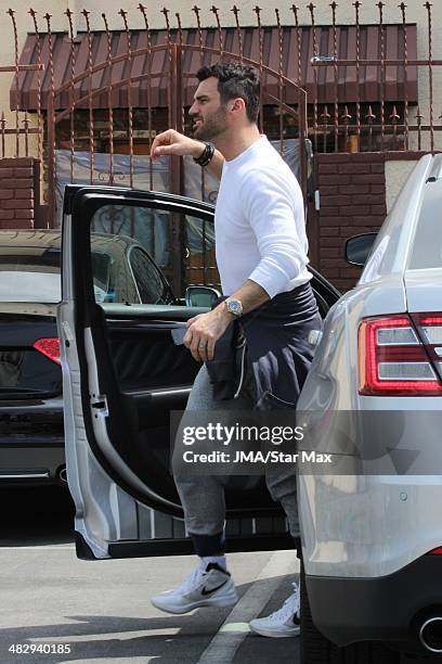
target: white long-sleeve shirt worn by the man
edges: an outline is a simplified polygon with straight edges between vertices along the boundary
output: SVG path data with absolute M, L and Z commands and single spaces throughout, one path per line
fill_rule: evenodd
M 224 295 L 237 291 L 247 279 L 270 297 L 311 279 L 302 193 L 264 136 L 224 162 L 214 232 Z

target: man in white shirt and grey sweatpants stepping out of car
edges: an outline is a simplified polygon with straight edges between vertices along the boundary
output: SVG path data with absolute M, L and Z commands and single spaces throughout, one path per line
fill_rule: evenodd
M 191 155 L 221 177 L 216 253 L 222 290 L 229 297 L 188 321 L 184 343 L 205 365 L 184 417 L 197 410 L 294 408 L 312 359 L 308 334 L 321 328 L 307 270 L 301 191 L 288 166 L 259 132 L 260 84 L 255 69 L 222 63 L 203 67 L 197 78 L 190 110 L 195 138 L 169 129 L 152 146 L 153 158 Z M 247 371 L 231 395 L 234 398 L 217 400 L 216 385 L 209 380 L 210 361 L 217 342 L 235 320 L 247 342 Z M 169 613 L 232 605 L 237 596 L 224 557 L 222 478 L 190 478 L 176 472 L 174 480 L 200 564 L 178 588 L 152 602 Z M 266 484 L 273 499 L 283 505 L 299 547 L 294 469 L 266 469 Z M 251 621 L 250 627 L 264 636 L 295 636 L 298 612 L 295 587 L 280 611 Z

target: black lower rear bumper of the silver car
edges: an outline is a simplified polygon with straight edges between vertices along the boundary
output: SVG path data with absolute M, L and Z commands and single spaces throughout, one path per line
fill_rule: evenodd
M 442 556 L 422 556 L 378 578 L 306 576 L 313 622 L 338 646 L 382 640 L 418 643 L 421 622 L 442 615 Z

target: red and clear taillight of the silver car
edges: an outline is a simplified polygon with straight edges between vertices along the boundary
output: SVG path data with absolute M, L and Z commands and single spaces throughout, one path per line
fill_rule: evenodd
M 442 395 L 442 314 L 368 318 L 358 341 L 360 394 Z

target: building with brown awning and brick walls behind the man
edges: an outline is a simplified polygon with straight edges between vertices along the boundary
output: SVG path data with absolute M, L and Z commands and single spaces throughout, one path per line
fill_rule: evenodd
M 358 271 L 343 263 L 344 239 L 377 229 L 416 158 L 441 148 L 442 7 L 198 4 L 36 0 L 30 13 L 24 3 L 5 13 L 0 225 L 56 225 L 69 178 L 188 193 L 185 168 L 145 167 L 152 139 L 188 129 L 200 64 L 234 58 L 261 68 L 262 130 L 283 154 L 298 142 L 312 261 L 346 290 Z M 204 179 L 196 190 L 210 197 Z M 196 280 L 212 280 L 211 267 Z

